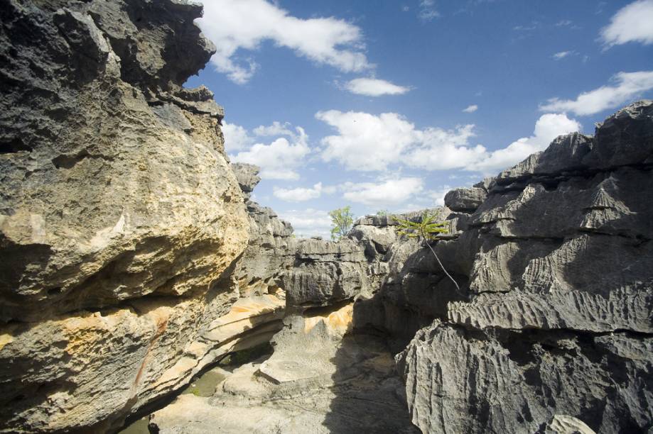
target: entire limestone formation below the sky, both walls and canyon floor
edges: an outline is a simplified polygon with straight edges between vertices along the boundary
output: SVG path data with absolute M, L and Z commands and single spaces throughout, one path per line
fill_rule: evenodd
M 250 199 L 222 109 L 182 87 L 212 53 L 200 6 L 0 6 L 0 432 L 112 432 L 267 342 L 151 425 L 652 429 L 652 101 L 428 210 L 458 290 L 392 216 L 298 240 Z

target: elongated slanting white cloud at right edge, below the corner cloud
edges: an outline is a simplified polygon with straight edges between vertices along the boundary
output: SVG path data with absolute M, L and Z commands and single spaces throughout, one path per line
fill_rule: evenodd
M 619 72 L 612 77 L 614 86 L 602 86 L 578 95 L 576 99 L 549 99 L 541 111 L 571 111 L 587 116 L 620 106 L 653 89 L 653 71 Z

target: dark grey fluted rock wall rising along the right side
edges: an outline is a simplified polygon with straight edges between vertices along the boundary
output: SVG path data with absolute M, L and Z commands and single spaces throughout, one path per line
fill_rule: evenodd
M 487 179 L 458 238 L 433 246 L 463 297 L 382 288 L 409 311 L 440 297 L 397 357 L 423 432 L 652 428 L 652 147 L 653 101 L 557 138 Z

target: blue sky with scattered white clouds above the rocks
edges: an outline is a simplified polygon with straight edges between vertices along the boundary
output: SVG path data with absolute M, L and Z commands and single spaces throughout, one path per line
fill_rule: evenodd
M 327 212 L 442 203 L 653 97 L 653 0 L 204 0 L 217 45 L 188 86 L 300 235 Z

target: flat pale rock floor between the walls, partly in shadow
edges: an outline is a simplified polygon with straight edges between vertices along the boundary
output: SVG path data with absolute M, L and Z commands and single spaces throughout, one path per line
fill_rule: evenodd
M 347 335 L 352 305 L 291 315 L 274 354 L 234 369 L 210 398 L 151 416 L 159 433 L 416 433 L 382 339 Z M 291 326 L 290 326 L 291 325 Z

